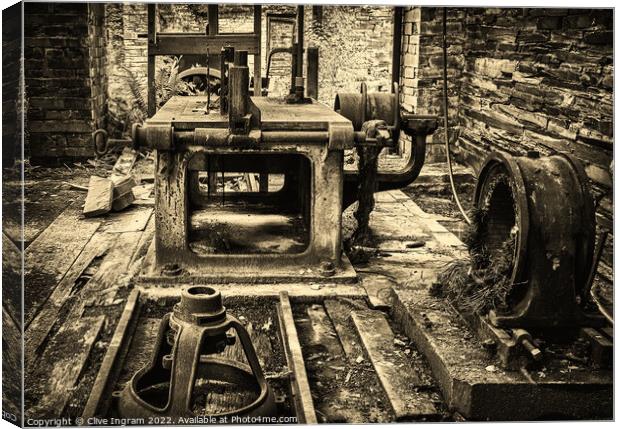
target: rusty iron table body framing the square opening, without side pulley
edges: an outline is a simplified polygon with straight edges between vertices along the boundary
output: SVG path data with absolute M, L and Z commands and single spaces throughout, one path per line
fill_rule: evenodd
M 300 265 L 314 266 L 319 273 L 325 272 L 321 266 L 330 264 L 339 270 L 343 150 L 353 147 L 358 136 L 350 121 L 321 104 L 288 105 L 284 100 L 249 97 L 246 64 L 247 53 L 236 51 L 235 63 L 223 70 L 229 78 L 228 115 L 211 111 L 205 97 L 173 97 L 144 127 L 134 130 L 138 145 L 158 151 L 156 263 L 163 274 L 171 272 L 164 267 L 175 265 L 180 271 L 174 273 L 180 277 L 206 266 L 209 272 L 215 270 L 225 277 L 238 272 L 240 265 L 255 269 L 289 267 L 291 272 L 298 271 Z M 281 156 L 286 154 L 298 156 L 299 161 L 282 164 Z M 261 158 L 261 162 L 254 162 Z M 304 168 L 300 169 L 299 162 Z M 205 255 L 192 251 L 188 196 L 194 198 L 199 193 L 195 192 L 196 173 L 187 173 L 190 164 L 192 171 L 198 172 L 212 168 L 245 171 L 259 165 L 258 171 L 246 172 L 283 172 L 285 193 L 289 201 L 298 200 L 297 208 L 311 234 L 307 248 L 285 255 Z M 254 197 L 251 195 L 250 200 Z M 229 198 L 239 200 L 235 195 Z

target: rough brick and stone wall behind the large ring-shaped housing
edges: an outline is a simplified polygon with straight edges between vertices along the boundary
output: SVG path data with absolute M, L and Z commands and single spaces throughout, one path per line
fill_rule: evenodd
M 442 114 L 442 9 L 409 8 L 403 31 L 404 106 Z M 478 169 L 491 150 L 570 152 L 591 180 L 598 226 L 609 228 L 613 12 L 451 8 L 448 43 L 457 158 Z M 441 138 L 438 132 L 434 141 Z M 611 243 L 603 260 L 599 274 L 610 281 Z

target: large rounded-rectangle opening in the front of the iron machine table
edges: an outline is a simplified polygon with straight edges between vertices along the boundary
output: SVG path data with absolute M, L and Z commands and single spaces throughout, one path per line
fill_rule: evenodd
M 300 154 L 199 155 L 188 183 L 190 249 L 199 255 L 302 253 L 310 239 L 310 173 L 310 160 Z M 269 177 L 267 189 L 256 183 L 260 175 Z M 245 181 L 249 176 L 254 180 Z M 231 185 L 242 180 L 245 186 Z

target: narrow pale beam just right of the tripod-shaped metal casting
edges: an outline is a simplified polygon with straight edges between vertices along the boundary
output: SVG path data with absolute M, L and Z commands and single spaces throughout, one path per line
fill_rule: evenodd
M 278 321 L 286 354 L 286 362 L 292 372 L 292 400 L 297 411 L 297 418 L 299 423 L 316 424 L 318 421 L 308 383 L 308 375 L 306 374 L 304 356 L 301 352 L 301 345 L 299 344 L 299 337 L 295 328 L 291 302 L 286 292 L 280 292 Z

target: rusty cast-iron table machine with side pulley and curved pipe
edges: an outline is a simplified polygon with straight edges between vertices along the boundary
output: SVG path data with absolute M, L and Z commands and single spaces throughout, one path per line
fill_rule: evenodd
M 409 162 L 379 173 L 375 190 L 402 187 L 419 174 L 436 118 L 401 112 L 397 90 L 339 95 L 336 111 L 308 97 L 302 16 L 289 96 L 251 95 L 248 52 L 223 46 L 218 107 L 208 96 L 175 96 L 134 126 L 134 145 L 157 153 L 147 280 L 353 281 L 341 214 L 357 198 L 360 172 L 345 173 L 344 151 L 394 146 L 402 131 L 414 141 Z M 308 65 L 309 75 L 316 66 Z M 230 173 L 277 175 L 280 182 L 258 192 L 218 189 L 214 178 Z

